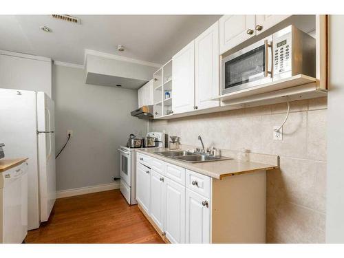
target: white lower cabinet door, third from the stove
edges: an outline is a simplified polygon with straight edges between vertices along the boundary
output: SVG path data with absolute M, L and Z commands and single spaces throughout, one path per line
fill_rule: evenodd
M 164 180 L 164 233 L 171 243 L 185 243 L 185 186 Z

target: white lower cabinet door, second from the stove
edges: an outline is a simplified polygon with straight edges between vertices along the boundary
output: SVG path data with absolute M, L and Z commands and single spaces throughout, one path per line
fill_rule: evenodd
M 151 171 L 151 206 L 149 215 L 155 224 L 164 230 L 164 177 L 152 170 Z

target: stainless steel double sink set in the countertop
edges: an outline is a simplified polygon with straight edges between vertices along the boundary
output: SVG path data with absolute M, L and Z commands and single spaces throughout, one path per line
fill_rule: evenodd
M 166 158 L 173 158 L 189 163 L 211 162 L 219 160 L 233 160 L 232 158 L 223 156 L 212 156 L 206 153 L 193 153 L 191 151 L 158 151 L 154 154 L 162 155 Z

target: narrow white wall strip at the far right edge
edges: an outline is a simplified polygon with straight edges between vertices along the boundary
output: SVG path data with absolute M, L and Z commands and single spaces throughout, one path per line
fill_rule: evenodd
M 344 16 L 330 15 L 326 242 L 344 243 Z M 340 33 L 338 33 L 340 32 Z

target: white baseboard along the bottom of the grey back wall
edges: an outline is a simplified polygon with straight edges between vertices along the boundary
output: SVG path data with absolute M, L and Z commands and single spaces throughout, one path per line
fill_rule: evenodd
M 97 193 L 103 191 L 109 191 L 114 189 L 120 189 L 120 182 L 114 182 L 110 184 L 98 184 L 97 186 L 80 187 L 76 189 L 62 190 L 56 192 L 56 198 L 64 198 L 76 195 L 85 195 L 87 193 Z

